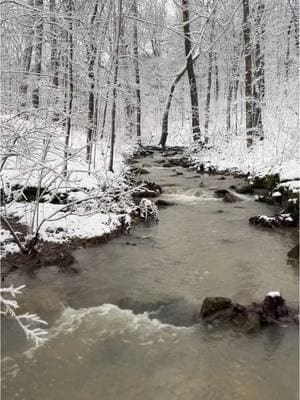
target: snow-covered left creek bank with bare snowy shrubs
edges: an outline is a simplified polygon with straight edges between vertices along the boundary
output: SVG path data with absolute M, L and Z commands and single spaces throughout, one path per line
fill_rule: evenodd
M 10 148 L 12 130 L 18 133 L 18 139 L 1 173 L 6 200 L 1 212 L 24 226 L 25 235 L 15 232 L 22 240 L 28 242 L 38 231 L 41 241 L 64 243 L 130 227 L 135 205 L 125 161 L 132 154 L 133 145 L 118 148 L 112 173 L 108 171 L 106 145 L 95 146 L 97 161 L 89 164 L 84 153 L 85 136 L 80 130 L 74 131 L 68 173 L 64 175 L 63 136 L 58 129 L 46 127 L 41 120 L 19 119 L 15 123 L 10 117 L 3 117 L 2 124 L 6 128 L 2 136 L 6 148 Z M 19 251 L 2 223 L 1 255 Z

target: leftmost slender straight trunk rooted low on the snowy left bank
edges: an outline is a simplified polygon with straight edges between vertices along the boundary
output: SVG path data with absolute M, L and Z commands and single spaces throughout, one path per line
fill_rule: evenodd
M 69 29 L 68 29 L 68 59 L 67 59 L 67 70 L 68 70 L 68 101 L 67 101 L 67 119 L 66 119 L 66 134 L 65 134 L 65 150 L 64 150 L 64 169 L 63 175 L 67 175 L 68 170 L 68 157 L 69 157 L 69 144 L 71 136 L 71 122 L 72 122 L 72 110 L 73 110 L 73 96 L 74 96 L 74 81 L 73 81 L 73 56 L 74 56 L 74 44 L 73 44 L 73 0 L 68 0 L 68 11 L 69 11 Z

